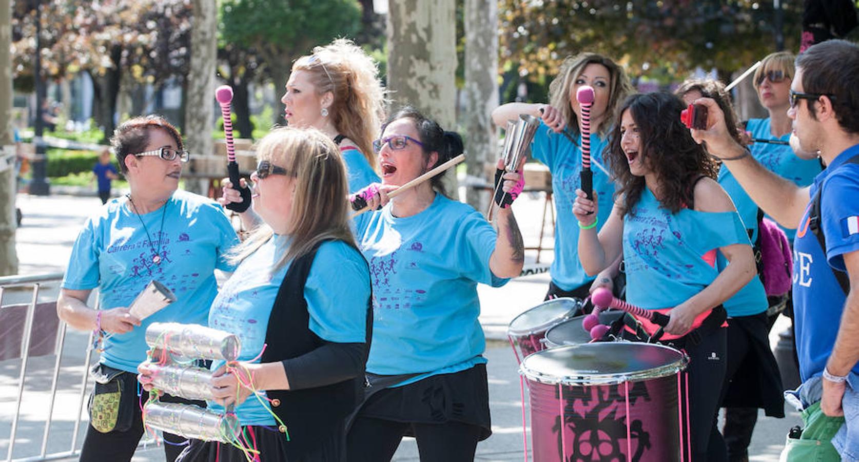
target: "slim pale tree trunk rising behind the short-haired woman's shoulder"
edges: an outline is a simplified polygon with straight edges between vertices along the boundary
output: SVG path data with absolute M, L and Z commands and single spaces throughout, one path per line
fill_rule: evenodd
M 191 69 L 186 84 L 185 139 L 192 155 L 211 155 L 215 127 L 215 66 L 217 63 L 217 7 L 212 0 L 193 1 Z M 194 184 L 198 187 L 194 187 Z M 199 181 L 186 181 L 186 189 L 200 192 Z

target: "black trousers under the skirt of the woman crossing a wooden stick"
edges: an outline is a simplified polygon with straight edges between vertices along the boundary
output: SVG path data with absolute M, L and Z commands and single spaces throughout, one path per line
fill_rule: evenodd
M 384 462 L 411 429 L 421 462 L 472 462 L 483 431 L 462 422 L 405 423 L 358 416 L 346 441 L 349 462 Z

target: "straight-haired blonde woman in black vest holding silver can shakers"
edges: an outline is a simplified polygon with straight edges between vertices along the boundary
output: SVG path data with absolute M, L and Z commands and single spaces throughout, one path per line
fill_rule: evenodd
M 232 252 L 238 266 L 209 313 L 210 327 L 239 337 L 241 356 L 212 363 L 209 408 L 235 404 L 258 460 L 341 462 L 372 322 L 344 162 L 326 134 L 292 127 L 271 131 L 257 155 L 253 210 L 262 223 Z M 192 441 L 180 460 L 247 459 L 228 444 Z

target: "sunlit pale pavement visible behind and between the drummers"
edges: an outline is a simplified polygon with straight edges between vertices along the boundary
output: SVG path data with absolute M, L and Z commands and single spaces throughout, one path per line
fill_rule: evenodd
M 23 213 L 22 227 L 17 233 L 18 257 L 21 274 L 37 274 L 64 271 L 70 257 L 70 247 L 86 216 L 93 213 L 101 203 L 93 197 L 52 196 L 47 198 L 21 195 L 18 207 Z M 514 204 L 515 215 L 522 228 L 526 246 L 536 246 L 539 237 L 539 222 L 543 210 L 542 197 L 525 194 Z M 551 248 L 551 224 L 546 223 L 544 246 Z M 527 263 L 533 263 L 536 252 L 527 252 Z M 542 262 L 551 261 L 551 252 L 543 252 Z M 490 409 L 493 435 L 478 445 L 476 460 L 516 461 L 522 460 L 521 398 L 517 365 L 504 332 L 510 319 L 522 311 L 534 307 L 545 295 L 549 277 L 547 273 L 516 278 L 500 289 L 480 286 L 482 304 L 480 322 L 490 341 L 486 357 L 490 386 Z M 49 288 L 51 290 L 51 288 Z M 56 289 L 53 289 L 54 294 Z M 9 296 L 9 295 L 6 295 Z M 15 296 L 26 296 L 15 295 Z M 4 296 L 4 300 L 5 296 Z M 780 319 L 776 332 L 783 330 L 785 319 Z M 47 452 L 68 449 L 72 438 L 72 426 L 80 397 L 82 362 L 88 334 L 69 331 L 60 374 L 57 404 L 54 407 L 54 423 L 47 442 Z M 773 343 L 774 344 L 774 343 Z M 38 454 L 42 430 L 50 396 L 51 370 L 54 356 L 34 358 L 27 368 L 27 382 L 21 407 L 21 424 L 15 442 L 15 458 Z M 14 414 L 16 383 L 19 362 L 0 362 L 0 458 L 4 458 L 9 447 L 9 429 Z M 799 415 L 789 410 L 784 419 L 761 415 L 752 438 L 750 458 L 752 461 L 777 461 L 788 429 L 799 423 Z M 84 429 L 79 430 L 78 447 Z M 530 446 L 530 441 L 529 441 Z M 74 460 L 74 459 L 67 459 Z M 138 450 L 134 460 L 162 461 L 160 447 Z M 405 439 L 394 457 L 398 461 L 417 461 L 417 445 Z M 108 461 L 106 461 L 108 462 Z

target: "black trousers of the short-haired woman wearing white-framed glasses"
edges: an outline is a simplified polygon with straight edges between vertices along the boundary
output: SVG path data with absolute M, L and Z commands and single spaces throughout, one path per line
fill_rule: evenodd
M 125 388 L 123 393 L 134 394 L 137 397 L 137 374 L 131 372 L 123 373 Z M 142 391 L 142 389 L 141 389 Z M 88 426 L 87 436 L 83 440 L 81 449 L 81 462 L 123 462 L 131 460 L 134 451 L 137 449 L 137 443 L 143 436 L 143 411 L 140 410 L 140 405 L 145 402 L 145 392 L 143 401 L 140 398 L 135 398 L 134 417 L 131 422 L 131 429 L 127 431 L 112 431 L 101 433 Z M 170 395 L 161 396 L 161 401 L 165 403 L 182 403 L 182 404 L 197 404 L 205 407 L 203 401 L 191 401 L 185 398 L 176 398 Z M 183 449 L 187 446 L 188 441 L 185 438 L 177 435 L 164 434 L 164 454 L 167 456 L 168 462 L 174 462 Z

